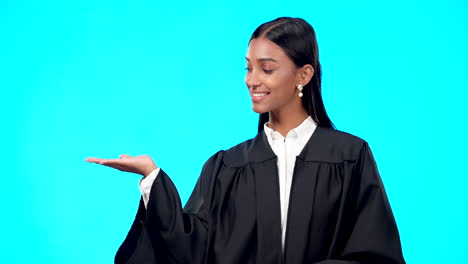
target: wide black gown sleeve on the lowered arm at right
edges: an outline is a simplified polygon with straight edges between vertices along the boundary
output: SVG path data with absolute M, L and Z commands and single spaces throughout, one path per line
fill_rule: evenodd
M 349 236 L 341 256 L 316 264 L 404 264 L 400 236 L 372 152 L 364 143 L 348 193 Z

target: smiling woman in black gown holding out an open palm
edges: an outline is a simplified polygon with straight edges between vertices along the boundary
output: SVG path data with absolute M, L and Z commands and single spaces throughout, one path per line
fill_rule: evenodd
M 325 111 L 313 28 L 262 24 L 246 61 L 259 133 L 206 162 L 184 209 L 150 157 L 87 159 L 145 176 L 115 262 L 405 263 L 367 143 Z

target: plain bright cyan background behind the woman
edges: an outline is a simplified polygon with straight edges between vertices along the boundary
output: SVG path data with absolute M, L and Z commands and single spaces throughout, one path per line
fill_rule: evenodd
M 256 134 L 253 30 L 316 29 L 337 128 L 374 152 L 408 263 L 468 263 L 468 4 L 1 1 L 1 263 L 112 263 L 149 154 L 188 198 L 206 159 Z

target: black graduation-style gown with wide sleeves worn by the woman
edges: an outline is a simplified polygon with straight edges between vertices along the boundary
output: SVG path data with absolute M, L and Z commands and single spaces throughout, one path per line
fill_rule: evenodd
M 365 141 L 317 127 L 296 158 L 284 252 L 277 157 L 265 133 L 213 155 L 186 206 L 161 170 L 115 263 L 405 263 Z

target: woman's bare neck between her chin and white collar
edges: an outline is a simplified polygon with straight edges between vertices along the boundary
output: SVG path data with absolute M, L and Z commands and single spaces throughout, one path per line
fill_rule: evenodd
M 291 129 L 298 127 L 309 116 L 305 109 L 301 107 L 291 111 L 271 111 L 268 127 L 279 132 L 286 137 Z

